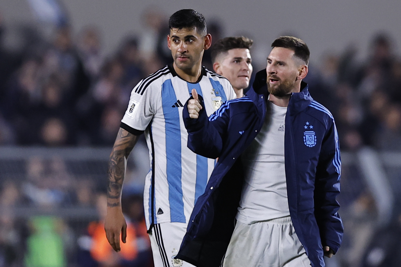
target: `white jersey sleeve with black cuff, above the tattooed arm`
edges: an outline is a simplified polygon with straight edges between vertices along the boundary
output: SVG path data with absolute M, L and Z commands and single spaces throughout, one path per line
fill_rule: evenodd
M 141 86 L 142 82 L 143 80 L 132 89 L 127 111 L 121 120 L 122 128 L 125 128 L 128 132 L 135 135 L 141 134 L 149 125 L 150 120 L 152 120 L 157 110 L 157 92 L 160 91 L 154 90 L 157 86 L 152 82 L 144 91 L 141 90 L 142 94 L 140 94 L 139 91 L 135 92 L 135 90 Z M 129 127 L 124 127 L 124 124 Z

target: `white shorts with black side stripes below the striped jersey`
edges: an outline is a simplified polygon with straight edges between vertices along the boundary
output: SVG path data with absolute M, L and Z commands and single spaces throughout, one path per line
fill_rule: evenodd
M 180 250 L 186 233 L 186 223 L 158 223 L 152 229 L 150 245 L 152 247 L 154 267 L 194 267 L 181 259 L 174 259 Z

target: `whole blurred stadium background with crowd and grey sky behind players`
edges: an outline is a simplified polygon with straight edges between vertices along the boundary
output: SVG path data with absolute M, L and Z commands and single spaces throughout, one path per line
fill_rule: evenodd
M 342 150 L 344 242 L 327 265 L 399 266 L 401 2 L 0 0 L 0 267 L 152 266 L 144 140 L 124 188 L 126 255 L 102 239 L 105 172 L 130 90 L 171 60 L 166 21 L 181 8 L 214 40 L 252 38 L 255 72 L 276 37 L 308 44 L 306 81 Z

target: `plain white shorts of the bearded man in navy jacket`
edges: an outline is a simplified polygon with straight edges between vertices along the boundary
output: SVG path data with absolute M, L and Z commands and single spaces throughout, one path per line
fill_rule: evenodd
M 290 216 L 247 225 L 237 221 L 223 267 L 310 267 Z

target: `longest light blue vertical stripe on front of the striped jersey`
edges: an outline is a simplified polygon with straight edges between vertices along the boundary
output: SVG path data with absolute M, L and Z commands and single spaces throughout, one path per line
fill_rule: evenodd
M 185 223 L 181 185 L 181 130 L 177 101 L 171 79 L 162 84 L 162 108 L 166 123 L 166 162 L 171 222 Z

